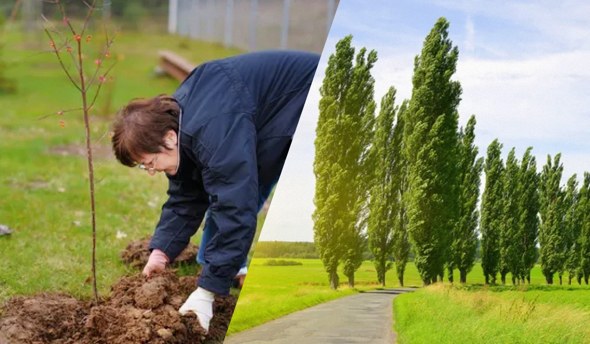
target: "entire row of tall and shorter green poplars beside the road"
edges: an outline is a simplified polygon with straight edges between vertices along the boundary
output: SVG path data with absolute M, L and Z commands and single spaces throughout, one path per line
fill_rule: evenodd
M 588 279 L 590 272 L 590 175 L 578 191 L 575 176 L 560 186 L 560 156 L 537 173 L 527 149 L 519 163 L 514 149 L 506 166 L 501 144 L 477 158 L 476 119 L 458 127 L 461 86 L 451 80 L 458 49 L 438 19 L 415 57 L 410 100 L 383 96 L 378 116 L 371 69 L 375 51 L 355 55 L 352 36 L 336 44 L 320 88 L 316 129 L 314 241 L 329 275 L 337 268 L 354 285 L 366 243 L 380 283 L 394 264 L 399 283 L 410 250 L 423 284 L 442 281 L 445 270 L 460 282 L 475 264 L 481 232 L 486 283 L 529 280 L 540 255 L 548 283 L 564 271 Z M 478 211 L 481 172 L 486 185 Z M 584 238 L 588 238 L 584 240 Z M 539 244 L 539 247 L 537 247 Z M 586 272 L 588 271 L 588 272 Z

